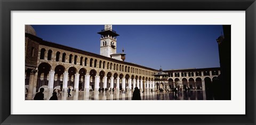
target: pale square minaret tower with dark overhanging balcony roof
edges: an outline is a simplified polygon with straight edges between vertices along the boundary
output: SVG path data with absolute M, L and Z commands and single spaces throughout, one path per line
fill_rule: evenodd
M 119 35 L 112 29 L 112 25 L 105 25 L 105 28 L 98 32 L 100 37 L 100 55 L 110 57 L 116 53 L 116 37 Z

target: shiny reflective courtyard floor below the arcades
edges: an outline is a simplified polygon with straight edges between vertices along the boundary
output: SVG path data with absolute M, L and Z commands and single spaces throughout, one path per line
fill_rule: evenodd
M 132 100 L 132 92 L 71 92 L 68 97 L 67 92 L 61 92 L 58 95 L 58 100 Z M 50 95 L 50 96 L 49 96 Z M 141 100 L 206 100 L 205 91 L 190 91 L 179 92 L 173 94 L 172 92 L 141 92 Z M 33 95 L 34 98 L 35 94 Z M 44 100 L 49 100 L 52 92 L 44 92 Z M 26 99 L 28 100 L 28 99 Z

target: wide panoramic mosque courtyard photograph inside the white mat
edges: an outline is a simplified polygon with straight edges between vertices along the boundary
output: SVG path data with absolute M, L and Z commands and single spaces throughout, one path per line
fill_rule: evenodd
M 231 25 L 25 25 L 25 100 L 231 100 Z

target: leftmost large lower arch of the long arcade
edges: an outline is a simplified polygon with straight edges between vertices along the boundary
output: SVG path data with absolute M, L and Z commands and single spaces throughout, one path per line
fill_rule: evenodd
M 38 65 L 38 73 L 37 73 L 37 84 L 36 84 L 36 92 L 38 92 L 39 88 L 45 86 L 45 91 L 47 91 L 48 86 L 48 78 L 49 72 L 51 70 L 51 65 L 47 62 L 42 62 Z

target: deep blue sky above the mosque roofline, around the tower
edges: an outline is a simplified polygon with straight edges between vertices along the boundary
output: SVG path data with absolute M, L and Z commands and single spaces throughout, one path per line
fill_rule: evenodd
M 32 25 L 37 37 L 100 54 L 104 25 Z M 222 25 L 113 25 L 126 62 L 163 70 L 220 67 Z

